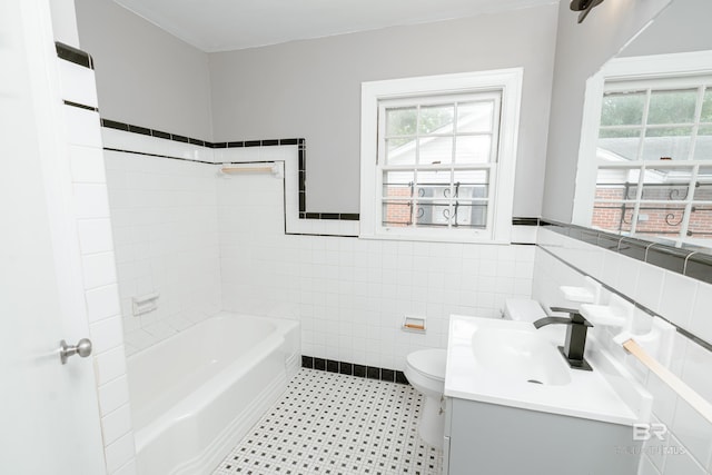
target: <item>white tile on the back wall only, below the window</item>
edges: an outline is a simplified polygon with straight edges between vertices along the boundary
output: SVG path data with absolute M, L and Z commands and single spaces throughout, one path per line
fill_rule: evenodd
M 305 355 L 403 369 L 409 352 L 446 346 L 449 314 L 498 317 L 531 295 L 533 246 L 285 235 L 281 180 L 217 185 L 222 308 L 300 319 Z M 427 331 L 403 331 L 405 315 Z

